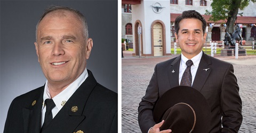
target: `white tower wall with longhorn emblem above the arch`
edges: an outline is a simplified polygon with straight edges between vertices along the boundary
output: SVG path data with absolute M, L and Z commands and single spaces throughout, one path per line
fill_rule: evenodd
M 151 7 L 154 3 L 158 2 L 162 5 L 162 12 L 155 13 Z M 132 23 L 135 27 L 135 22 L 141 21 L 142 24 L 142 41 L 143 41 L 143 54 L 151 53 L 151 24 L 155 20 L 161 20 L 165 25 L 165 38 L 166 38 L 166 54 L 171 53 L 171 29 L 170 29 L 170 1 L 151 1 L 144 0 L 141 4 L 132 5 Z M 134 32 L 134 31 L 133 31 Z M 137 34 L 137 33 L 134 33 Z M 133 40 L 135 40 L 133 38 Z M 134 47 L 133 47 L 134 48 Z

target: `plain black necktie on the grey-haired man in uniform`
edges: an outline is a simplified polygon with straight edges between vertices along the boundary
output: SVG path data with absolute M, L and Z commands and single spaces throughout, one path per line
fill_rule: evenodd
M 51 122 L 51 120 L 52 120 L 52 109 L 55 107 L 55 103 L 53 102 L 52 99 L 46 99 L 44 101 L 44 103 L 46 105 L 46 111 L 45 111 L 44 124 L 43 124 L 42 130 L 44 128 L 46 128 L 49 125 L 49 123 Z

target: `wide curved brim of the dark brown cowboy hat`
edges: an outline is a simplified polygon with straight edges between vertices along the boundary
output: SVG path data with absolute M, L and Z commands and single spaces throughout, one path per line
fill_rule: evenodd
M 196 112 L 196 125 L 193 132 L 209 132 L 211 109 L 205 97 L 193 87 L 177 86 L 159 97 L 153 111 L 155 122 L 161 122 L 166 110 L 177 103 L 187 103 Z

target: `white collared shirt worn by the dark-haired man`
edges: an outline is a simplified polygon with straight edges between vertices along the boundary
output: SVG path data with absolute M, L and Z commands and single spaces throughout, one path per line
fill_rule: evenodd
M 199 52 L 198 55 L 196 55 L 193 58 L 191 58 L 191 60 L 193 61 L 193 65 L 191 66 L 192 85 L 194 83 L 194 79 L 195 79 L 195 76 L 196 76 L 197 68 L 199 66 L 199 63 L 200 63 L 202 55 L 203 55 L 203 51 Z M 181 54 L 180 70 L 179 70 L 179 84 L 181 82 L 182 75 L 183 75 L 185 69 L 187 68 L 186 62 L 188 60 L 189 60 L 188 58 L 186 58 L 185 56 L 183 56 Z

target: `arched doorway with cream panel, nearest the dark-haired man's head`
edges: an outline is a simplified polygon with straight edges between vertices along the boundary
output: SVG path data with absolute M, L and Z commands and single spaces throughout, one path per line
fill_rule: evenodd
M 153 56 L 165 56 L 165 25 L 161 20 L 151 24 L 151 53 Z

